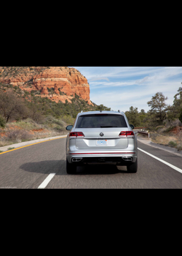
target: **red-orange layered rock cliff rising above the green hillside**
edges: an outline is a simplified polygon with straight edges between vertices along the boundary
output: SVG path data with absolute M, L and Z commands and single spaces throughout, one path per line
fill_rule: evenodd
M 77 69 L 68 67 L 0 67 L 0 83 L 19 86 L 24 91 L 37 91 L 36 96 L 55 102 L 71 102 L 77 94 L 88 104 L 90 86 Z

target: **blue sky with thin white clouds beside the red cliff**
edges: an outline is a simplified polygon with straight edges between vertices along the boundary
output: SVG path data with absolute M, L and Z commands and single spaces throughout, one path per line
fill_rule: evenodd
M 147 102 L 157 92 L 168 97 L 173 105 L 175 94 L 182 87 L 182 67 L 74 67 L 90 83 L 90 99 L 111 110 L 130 107 L 150 110 Z

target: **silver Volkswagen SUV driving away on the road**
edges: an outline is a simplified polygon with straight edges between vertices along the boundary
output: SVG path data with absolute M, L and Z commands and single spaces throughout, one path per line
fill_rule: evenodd
M 76 167 L 87 164 L 127 166 L 129 173 L 138 170 L 138 146 L 134 127 L 124 113 L 95 111 L 79 113 L 74 126 L 66 127 L 66 170 L 76 173 Z

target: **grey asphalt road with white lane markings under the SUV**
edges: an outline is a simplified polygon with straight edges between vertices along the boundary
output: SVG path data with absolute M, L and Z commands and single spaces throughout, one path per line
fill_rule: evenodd
M 68 176 L 65 144 L 66 139 L 62 138 L 0 154 L 0 188 L 182 188 L 182 173 L 143 151 L 182 169 L 182 157 L 175 154 L 138 141 L 138 148 L 143 150 L 138 151 L 138 173 L 127 173 L 126 167 L 100 165 L 79 167 L 76 175 Z

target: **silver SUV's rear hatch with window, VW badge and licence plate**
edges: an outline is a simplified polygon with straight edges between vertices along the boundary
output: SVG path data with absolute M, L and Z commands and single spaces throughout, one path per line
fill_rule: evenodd
M 84 151 L 125 149 L 128 147 L 128 138 L 121 138 L 119 134 L 128 130 L 125 118 L 121 114 L 79 116 L 75 132 L 82 132 L 84 138 L 76 138 L 76 148 Z

